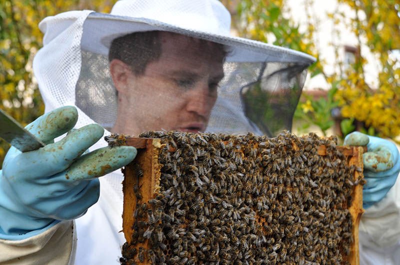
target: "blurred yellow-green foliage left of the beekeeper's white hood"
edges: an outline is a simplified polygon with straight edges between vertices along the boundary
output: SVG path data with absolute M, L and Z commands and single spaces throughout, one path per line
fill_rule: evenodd
M 44 113 L 32 72 L 32 59 L 41 47 L 38 23 L 60 12 L 91 9 L 109 12 L 116 0 L 1 0 L 0 108 L 23 126 Z M 0 168 L 8 143 L 0 138 Z

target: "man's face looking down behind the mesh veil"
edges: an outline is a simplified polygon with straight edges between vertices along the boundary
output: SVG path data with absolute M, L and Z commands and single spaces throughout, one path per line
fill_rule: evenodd
M 159 59 L 144 74 L 127 73 L 130 88 L 118 90 L 118 115 L 125 117 L 123 132 L 204 131 L 223 77 L 223 54 L 211 43 L 162 32 Z M 118 119 L 117 119 L 118 122 Z

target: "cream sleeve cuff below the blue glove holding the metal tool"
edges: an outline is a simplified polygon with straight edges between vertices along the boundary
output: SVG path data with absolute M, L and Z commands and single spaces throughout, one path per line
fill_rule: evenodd
M 76 252 L 74 221 L 60 222 L 24 240 L 0 239 L 2 264 L 73 264 Z

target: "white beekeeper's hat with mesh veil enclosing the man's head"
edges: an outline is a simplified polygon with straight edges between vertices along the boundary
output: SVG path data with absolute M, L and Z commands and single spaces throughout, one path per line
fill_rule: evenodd
M 119 0 L 39 24 L 33 70 L 46 111 L 74 105 L 77 127 L 274 136 L 291 120 L 314 58 L 230 34 L 218 0 Z

